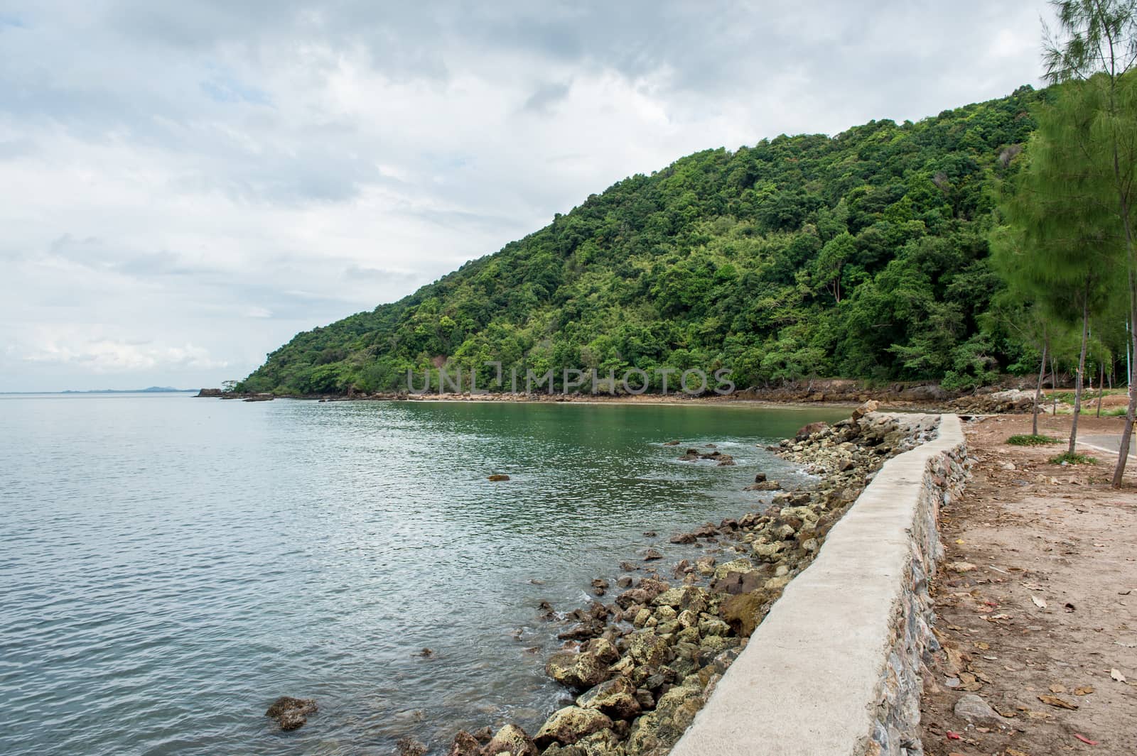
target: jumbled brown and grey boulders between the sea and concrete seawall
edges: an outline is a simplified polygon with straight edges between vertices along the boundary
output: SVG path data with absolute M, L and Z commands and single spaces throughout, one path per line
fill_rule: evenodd
M 449 756 L 663 756 L 691 724 L 717 682 L 796 574 L 889 456 L 935 434 L 931 415 L 883 415 L 870 403 L 835 426 L 804 428 L 774 447 L 820 476 L 808 490 L 778 492 L 764 511 L 677 534 L 706 544 L 670 576 L 657 553 L 624 562 L 620 593 L 564 615 L 564 642 L 547 673 L 573 694 L 532 737 L 509 724 L 460 732 Z M 639 573 L 639 577 L 634 577 Z M 604 595 L 607 581 L 596 580 Z M 551 607 L 545 616 L 556 621 Z

